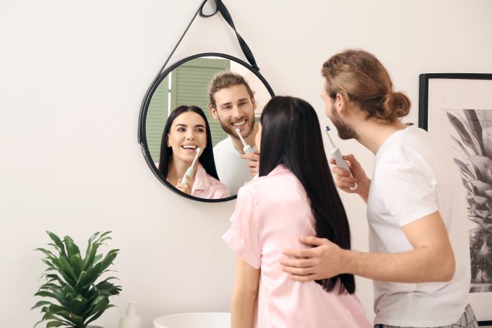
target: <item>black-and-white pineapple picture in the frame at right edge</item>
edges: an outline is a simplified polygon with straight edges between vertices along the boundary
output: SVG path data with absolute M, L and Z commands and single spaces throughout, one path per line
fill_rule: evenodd
M 461 158 L 454 163 L 467 189 L 470 230 L 470 292 L 492 292 L 492 110 L 447 110 Z

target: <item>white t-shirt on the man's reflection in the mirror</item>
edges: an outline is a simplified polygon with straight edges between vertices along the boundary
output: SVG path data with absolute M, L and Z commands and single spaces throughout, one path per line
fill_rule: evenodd
M 256 150 L 256 146 L 253 147 L 253 151 Z M 218 179 L 228 186 L 231 195 L 236 195 L 239 188 L 253 178 L 248 160 L 241 158 L 241 154 L 232 144 L 231 137 L 226 137 L 215 145 L 214 159 Z

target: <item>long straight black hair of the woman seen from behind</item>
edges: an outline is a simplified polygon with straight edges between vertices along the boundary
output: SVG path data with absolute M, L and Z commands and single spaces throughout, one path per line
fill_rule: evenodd
M 265 105 L 260 122 L 260 177 L 280 164 L 285 165 L 299 179 L 311 201 L 316 236 L 350 249 L 347 214 L 331 177 L 314 108 L 299 98 L 276 96 Z M 352 274 L 340 274 L 316 283 L 330 292 L 338 281 L 341 283 L 338 292 L 344 289 L 350 294 L 355 292 Z

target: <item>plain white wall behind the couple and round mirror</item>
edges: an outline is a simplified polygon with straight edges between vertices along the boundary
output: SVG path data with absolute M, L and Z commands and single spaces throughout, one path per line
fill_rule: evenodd
M 33 248 L 45 230 L 85 244 L 113 230 L 120 306 L 145 327 L 168 313 L 228 311 L 234 256 L 221 240 L 234 202 L 204 204 L 168 191 L 137 144 L 140 101 L 200 0 L 0 1 L 0 312 L 2 327 L 31 327 L 43 272 Z M 419 73 L 492 73 L 492 1 L 224 0 L 276 94 L 305 98 L 324 116 L 320 66 L 347 47 L 376 54 L 414 105 Z M 197 52 L 244 59 L 219 16 L 197 18 L 174 61 Z M 339 142 L 371 170 L 372 156 Z M 355 248 L 364 204 L 343 195 Z M 368 316 L 372 287 L 358 281 Z

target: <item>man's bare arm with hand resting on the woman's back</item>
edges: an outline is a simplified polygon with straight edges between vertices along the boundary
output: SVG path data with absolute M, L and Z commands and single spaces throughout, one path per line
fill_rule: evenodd
M 354 274 L 394 283 L 447 282 L 456 262 L 439 211 L 403 225 L 412 249 L 400 253 L 363 253 L 339 248 L 327 239 L 301 237 L 315 248 L 285 250 L 295 259 L 281 260 L 283 270 L 295 281 L 313 281 Z

